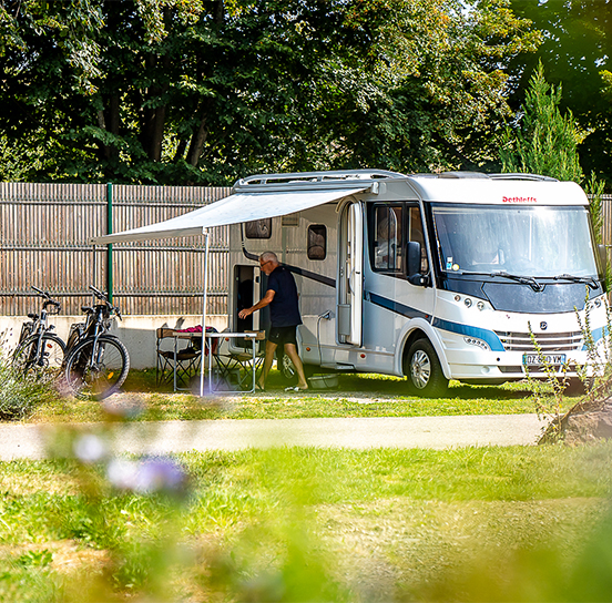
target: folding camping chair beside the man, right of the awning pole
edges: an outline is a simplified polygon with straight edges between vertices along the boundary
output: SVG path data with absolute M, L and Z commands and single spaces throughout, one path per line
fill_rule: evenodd
M 237 334 L 220 334 L 220 344 L 214 354 L 216 391 L 254 391 L 257 370 L 264 361 L 265 333 L 251 333 L 252 337 L 235 337 Z M 255 346 L 255 359 L 253 347 Z

